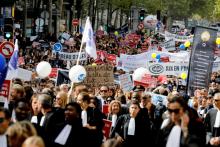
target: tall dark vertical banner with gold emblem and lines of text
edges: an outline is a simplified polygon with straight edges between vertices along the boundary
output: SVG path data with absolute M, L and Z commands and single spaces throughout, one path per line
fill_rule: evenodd
M 196 89 L 208 89 L 214 62 L 217 30 L 196 27 L 188 74 L 187 93 L 194 95 Z

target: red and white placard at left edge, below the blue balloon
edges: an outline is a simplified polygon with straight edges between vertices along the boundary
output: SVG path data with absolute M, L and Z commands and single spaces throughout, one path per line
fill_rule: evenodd
M 5 80 L 0 91 L 0 106 L 3 107 L 5 101 L 9 98 L 11 80 Z

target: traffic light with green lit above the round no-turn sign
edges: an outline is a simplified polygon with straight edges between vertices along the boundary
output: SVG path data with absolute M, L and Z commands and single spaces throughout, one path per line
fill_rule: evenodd
M 13 25 L 14 23 L 12 18 L 4 19 L 4 38 L 7 40 L 13 39 L 13 33 L 14 33 Z

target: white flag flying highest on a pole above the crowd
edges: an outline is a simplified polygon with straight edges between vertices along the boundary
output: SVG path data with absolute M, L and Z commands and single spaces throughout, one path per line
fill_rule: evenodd
M 94 37 L 93 37 L 93 30 L 92 30 L 92 26 L 91 23 L 89 21 L 89 17 L 86 20 L 86 25 L 85 25 L 85 29 L 83 32 L 83 37 L 82 37 L 82 44 L 86 43 L 86 52 L 87 54 L 96 59 L 97 58 L 97 53 L 96 53 L 96 45 L 95 45 L 95 41 L 94 41 Z

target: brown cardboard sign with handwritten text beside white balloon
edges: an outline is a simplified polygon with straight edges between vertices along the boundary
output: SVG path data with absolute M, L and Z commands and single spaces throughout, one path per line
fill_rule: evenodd
M 88 87 L 100 87 L 103 85 L 114 86 L 113 66 L 104 64 L 86 66 L 87 76 L 83 84 Z

